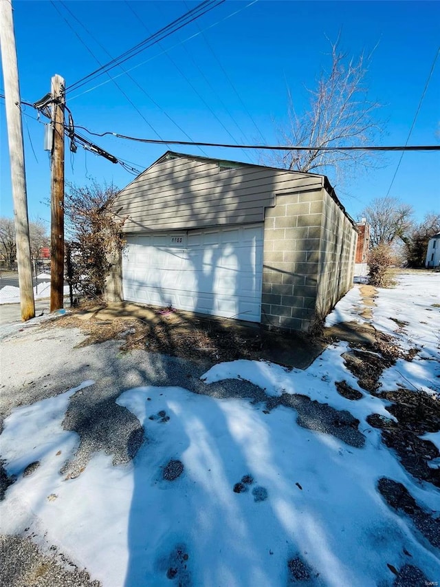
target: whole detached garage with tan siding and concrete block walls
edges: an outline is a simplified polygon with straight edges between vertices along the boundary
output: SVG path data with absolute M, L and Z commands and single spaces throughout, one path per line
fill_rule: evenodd
M 325 175 L 166 151 L 113 211 L 107 301 L 307 332 L 353 281 L 357 228 Z

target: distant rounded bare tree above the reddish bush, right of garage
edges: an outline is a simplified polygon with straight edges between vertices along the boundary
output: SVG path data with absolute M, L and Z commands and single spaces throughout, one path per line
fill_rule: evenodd
M 404 237 L 412 226 L 412 206 L 397 198 L 376 198 L 361 213 L 370 224 L 370 246 L 391 244 Z

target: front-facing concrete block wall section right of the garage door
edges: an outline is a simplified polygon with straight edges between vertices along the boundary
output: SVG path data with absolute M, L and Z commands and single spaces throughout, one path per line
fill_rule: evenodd
M 276 196 L 264 223 L 261 323 L 307 330 L 320 270 L 324 190 Z

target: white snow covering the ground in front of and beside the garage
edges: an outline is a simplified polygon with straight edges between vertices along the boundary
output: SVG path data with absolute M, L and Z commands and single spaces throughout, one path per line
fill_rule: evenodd
M 436 396 L 440 275 L 401 275 L 375 301 L 375 328 L 403 349 L 419 348 L 413 361 L 384 372 L 382 388 L 401 383 Z M 327 322 L 365 321 L 361 310 L 355 286 Z M 113 466 L 111 455 L 96 453 L 80 476 L 66 479 L 60 469 L 79 440 L 63 429 L 63 418 L 69 398 L 93 382 L 17 407 L 0 436 L 5 469 L 17 476 L 0 503 L 0 532 L 47 532 L 50 544 L 104 587 L 391 586 L 407 564 L 438 584 L 439 549 L 386 504 L 377 482 L 404 484 L 437 517 L 440 491 L 410 476 L 366 422 L 373 413 L 393 416 L 388 402 L 361 389 L 347 370 L 347 350 L 347 343 L 330 345 L 305 371 L 233 361 L 214 365 L 202 379 L 209 385 L 241 378 L 268 398 L 303 394 L 348 410 L 360 420 L 360 447 L 301 427 L 285 406 L 268 411 L 243 398 L 137 387 L 117 400 L 144 428 L 134 460 Z M 336 392 L 342 380 L 362 393 L 359 401 Z M 426 438 L 440 450 L 440 432 Z

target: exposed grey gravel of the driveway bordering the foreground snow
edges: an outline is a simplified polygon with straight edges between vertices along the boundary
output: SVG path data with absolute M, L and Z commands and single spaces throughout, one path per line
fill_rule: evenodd
M 142 385 L 184 387 L 196 394 L 217 398 L 249 398 L 252 403 L 265 403 L 267 412 L 283 405 L 296 410 L 298 424 L 303 427 L 332 434 L 351 446 L 359 447 L 364 443 L 357 420 L 348 412 L 338 412 L 305 396 L 269 397 L 263 389 L 243 380 L 207 385 L 200 376 L 211 363 L 144 350 L 121 352 L 123 340 L 80 346 L 85 339 L 80 330 L 40 328 L 44 319 L 47 318 L 35 319 L 26 325 L 0 327 L 0 430 L 3 418 L 15 407 L 63 393 L 86 380 L 95 381 L 94 385 L 72 396 L 65 414 L 63 426 L 76 431 L 80 438 L 76 454 L 63 465 L 66 476 L 80 474 L 96 451 L 112 455 L 115 465 L 135 456 L 144 440 L 144 431 L 137 418 L 116 404 L 115 399 L 126 389 Z M 87 573 L 76 567 L 73 572 L 70 568 L 68 576 L 63 574 L 67 572 L 59 566 L 63 555 L 51 551 L 50 544 L 39 550 L 25 539 L 24 532 L 22 534 L 21 537 L 3 537 L 1 542 L 5 562 L 0 575 L 2 586 L 97 585 L 89 582 Z M 43 535 L 42 530 L 40 537 L 35 536 L 33 540 L 42 540 Z M 46 570 L 39 575 L 37 568 Z M 34 573 L 31 581 L 29 573 Z

